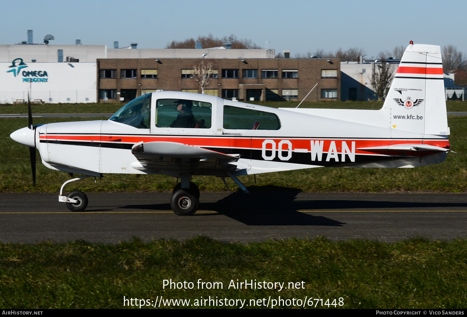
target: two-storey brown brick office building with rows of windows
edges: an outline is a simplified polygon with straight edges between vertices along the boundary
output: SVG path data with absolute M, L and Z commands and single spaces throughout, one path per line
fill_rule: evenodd
M 201 93 L 191 78 L 201 61 L 212 64 L 205 94 L 226 99 L 340 100 L 338 59 L 98 59 L 99 102 L 127 102 L 156 90 Z M 106 98 L 106 99 L 105 99 Z

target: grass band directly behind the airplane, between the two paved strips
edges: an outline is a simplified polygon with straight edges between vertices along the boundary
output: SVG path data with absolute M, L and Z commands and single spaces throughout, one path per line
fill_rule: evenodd
M 38 118 L 35 124 L 86 120 L 85 118 Z M 37 152 L 37 181 L 32 186 L 29 151 L 14 142 L 10 133 L 27 126 L 26 118 L 0 119 L 0 192 L 57 193 L 70 176 L 52 171 L 40 162 Z M 466 191 L 467 177 L 467 117 L 448 117 L 451 127 L 451 149 L 446 162 L 417 168 L 312 168 L 288 172 L 256 175 L 258 189 L 268 186 L 296 188 L 304 192 L 453 192 Z M 84 192 L 171 192 L 176 179 L 163 175 L 122 176 L 105 174 L 97 184 L 94 179 L 74 183 Z M 241 176 L 246 186 L 254 186 L 254 176 Z M 194 176 L 201 191 L 226 191 L 222 181 L 215 177 Z M 230 182 L 233 183 L 233 182 Z M 232 184 L 234 190 L 238 187 Z

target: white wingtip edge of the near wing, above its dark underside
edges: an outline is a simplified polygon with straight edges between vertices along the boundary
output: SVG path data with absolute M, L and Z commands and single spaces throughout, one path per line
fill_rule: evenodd
M 135 155 L 168 158 L 190 159 L 231 159 L 237 161 L 238 157 L 220 152 L 207 150 L 198 146 L 185 145 L 177 142 L 139 142 L 133 145 L 131 152 Z

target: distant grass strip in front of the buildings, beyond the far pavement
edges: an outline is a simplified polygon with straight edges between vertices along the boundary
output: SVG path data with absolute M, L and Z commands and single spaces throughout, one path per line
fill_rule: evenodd
M 249 102 L 273 108 L 293 108 L 297 107 L 298 101 L 289 102 Z M 376 101 L 320 101 L 303 102 L 300 108 L 331 108 L 331 109 L 381 109 L 383 102 Z M 123 103 L 45 103 L 33 104 L 33 113 L 115 113 Z M 447 111 L 467 111 L 467 103 L 462 101 L 446 101 Z M 0 104 L 0 113 L 28 113 L 28 105 Z

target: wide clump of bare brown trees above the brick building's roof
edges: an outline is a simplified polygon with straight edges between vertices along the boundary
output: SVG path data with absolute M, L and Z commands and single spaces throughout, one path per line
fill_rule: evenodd
M 253 43 L 250 39 L 239 39 L 231 34 L 217 38 L 210 33 L 207 36 L 198 35 L 197 39 L 191 38 L 184 41 L 172 41 L 165 48 L 195 48 L 197 41 L 201 42 L 203 48 L 214 48 L 224 46 L 224 43 L 232 43 L 232 48 L 258 49 L 260 46 Z

